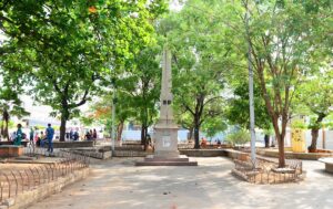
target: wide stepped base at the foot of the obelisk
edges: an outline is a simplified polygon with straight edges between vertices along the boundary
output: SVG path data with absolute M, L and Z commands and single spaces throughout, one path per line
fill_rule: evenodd
M 143 161 L 137 161 L 135 166 L 198 166 L 198 161 L 190 160 L 185 155 L 178 157 L 149 155 Z

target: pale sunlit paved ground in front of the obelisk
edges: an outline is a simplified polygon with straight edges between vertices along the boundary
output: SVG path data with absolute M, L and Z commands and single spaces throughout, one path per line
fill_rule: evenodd
M 333 208 L 333 175 L 304 161 L 305 181 L 251 185 L 234 178 L 223 157 L 195 158 L 198 167 L 134 167 L 134 158 L 92 166 L 92 174 L 30 209 Z

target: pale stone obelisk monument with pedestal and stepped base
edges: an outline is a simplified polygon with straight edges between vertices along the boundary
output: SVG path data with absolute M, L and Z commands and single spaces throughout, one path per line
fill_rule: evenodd
M 137 161 L 137 166 L 198 166 L 196 161 L 190 161 L 186 156 L 180 156 L 178 150 L 178 125 L 173 119 L 172 102 L 172 73 L 171 52 L 163 51 L 162 82 L 161 82 L 161 108 L 160 118 L 154 126 L 154 155 Z

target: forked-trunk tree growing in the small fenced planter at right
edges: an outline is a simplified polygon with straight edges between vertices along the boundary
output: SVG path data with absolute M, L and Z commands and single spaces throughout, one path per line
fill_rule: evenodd
M 234 6 L 234 2 L 232 2 Z M 279 143 L 279 166 L 285 166 L 284 137 L 290 119 L 290 107 L 301 75 L 316 63 L 321 51 L 317 35 L 326 33 L 329 1 L 242 1 L 243 8 L 234 7 L 243 14 L 243 29 L 234 31 L 250 44 L 252 65 Z M 250 24 L 244 13 L 251 14 Z M 236 23 L 235 23 L 236 24 Z M 321 32 L 320 32 L 321 31 Z M 235 39 L 235 36 L 233 38 Z M 244 51 L 243 51 L 244 52 Z

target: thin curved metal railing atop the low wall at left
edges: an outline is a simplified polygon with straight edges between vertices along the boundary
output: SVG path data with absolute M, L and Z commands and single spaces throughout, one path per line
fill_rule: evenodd
M 29 151 L 24 149 L 24 153 Z M 34 155 L 44 155 L 46 150 L 37 148 Z M 28 168 L 7 168 L 0 171 L 0 202 L 18 194 L 37 188 L 89 167 L 89 156 L 80 156 L 64 150 L 53 154 L 53 163 L 31 164 Z

